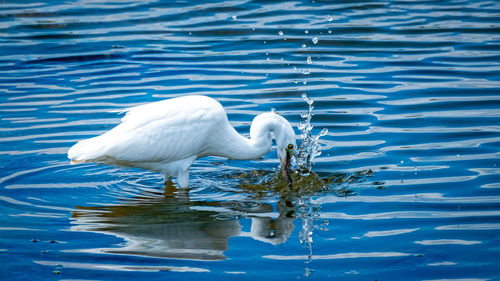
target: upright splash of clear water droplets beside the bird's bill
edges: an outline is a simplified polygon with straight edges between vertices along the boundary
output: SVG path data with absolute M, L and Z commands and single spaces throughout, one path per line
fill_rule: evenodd
M 328 129 L 324 128 L 316 136 L 312 134 L 313 126 L 311 125 L 311 118 L 313 116 L 312 110 L 314 109 L 313 100 L 308 98 L 305 93 L 302 94 L 302 99 L 309 105 L 309 109 L 307 113 L 303 113 L 301 115 L 304 120 L 298 125 L 300 130 L 299 138 L 302 141 L 297 147 L 295 162 L 302 175 L 308 175 L 311 172 L 313 159 L 316 156 L 321 155 L 319 138 L 326 135 L 328 133 Z

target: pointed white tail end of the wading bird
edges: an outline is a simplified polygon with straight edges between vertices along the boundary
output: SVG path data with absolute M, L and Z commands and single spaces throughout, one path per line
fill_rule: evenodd
M 81 140 L 68 150 L 71 163 L 96 161 L 105 156 L 105 141 L 103 136 Z

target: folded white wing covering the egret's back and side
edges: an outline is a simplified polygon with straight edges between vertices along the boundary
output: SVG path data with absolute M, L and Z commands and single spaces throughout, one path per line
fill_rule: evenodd
M 125 162 L 171 162 L 199 155 L 214 128 L 227 120 L 219 103 L 157 102 L 128 110 L 103 135 L 104 156 Z

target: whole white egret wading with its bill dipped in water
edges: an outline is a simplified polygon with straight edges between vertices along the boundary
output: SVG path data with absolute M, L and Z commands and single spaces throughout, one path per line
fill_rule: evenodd
M 118 126 L 71 147 L 71 162 L 158 171 L 165 175 L 165 181 L 177 177 L 180 187 L 188 187 L 189 168 L 197 158 L 260 158 L 271 150 L 274 135 L 283 175 L 289 179 L 295 133 L 290 123 L 274 112 L 254 118 L 248 139 L 231 126 L 222 105 L 206 96 L 173 98 L 125 111 Z

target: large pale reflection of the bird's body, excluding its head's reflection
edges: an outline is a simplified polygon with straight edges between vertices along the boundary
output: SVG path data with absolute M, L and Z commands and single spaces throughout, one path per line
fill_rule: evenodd
M 181 192 L 133 198 L 121 205 L 77 207 L 72 229 L 111 234 L 126 241 L 122 247 L 99 249 L 105 253 L 224 259 L 228 239 L 240 233 L 241 225 L 216 219 L 215 211 L 192 208 L 196 204 L 187 192 Z

